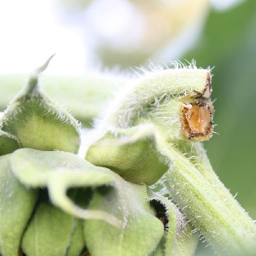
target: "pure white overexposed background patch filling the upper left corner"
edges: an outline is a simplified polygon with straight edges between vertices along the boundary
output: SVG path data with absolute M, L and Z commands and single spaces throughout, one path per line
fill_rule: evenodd
M 0 73 L 29 73 L 56 53 L 48 73 L 83 73 L 84 42 L 52 0 L 0 0 Z

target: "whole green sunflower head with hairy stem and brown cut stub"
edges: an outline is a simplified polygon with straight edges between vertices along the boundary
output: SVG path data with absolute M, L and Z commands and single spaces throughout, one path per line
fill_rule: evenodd
M 132 80 L 81 142 L 79 122 L 40 90 L 48 63 L 0 117 L 2 256 L 187 256 L 199 237 L 219 255 L 253 255 L 256 225 L 201 144 L 210 70 Z

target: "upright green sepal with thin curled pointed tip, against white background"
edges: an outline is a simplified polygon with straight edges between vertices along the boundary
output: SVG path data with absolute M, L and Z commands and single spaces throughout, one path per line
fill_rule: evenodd
M 22 148 L 77 153 L 78 121 L 51 102 L 39 89 L 38 75 L 48 63 L 32 74 L 23 90 L 9 104 L 0 119 L 0 129 L 17 137 Z

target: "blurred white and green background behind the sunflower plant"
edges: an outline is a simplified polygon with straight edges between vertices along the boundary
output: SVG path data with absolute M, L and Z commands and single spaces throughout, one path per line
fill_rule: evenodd
M 84 125 L 132 67 L 214 67 L 207 153 L 256 219 L 255 10 L 254 0 L 0 0 L 0 110 L 54 52 L 44 89 Z

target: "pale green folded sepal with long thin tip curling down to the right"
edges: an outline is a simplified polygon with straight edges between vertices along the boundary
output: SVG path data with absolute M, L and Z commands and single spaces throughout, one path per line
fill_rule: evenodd
M 114 179 L 106 168 L 91 165 L 76 154 L 61 151 L 40 151 L 31 148 L 16 150 L 10 160 L 12 172 L 21 183 L 32 188 L 49 190 L 49 199 L 57 207 L 79 218 L 103 219 L 119 226 L 119 219 L 108 212 L 83 209 L 67 197 L 67 189 L 109 185 Z

